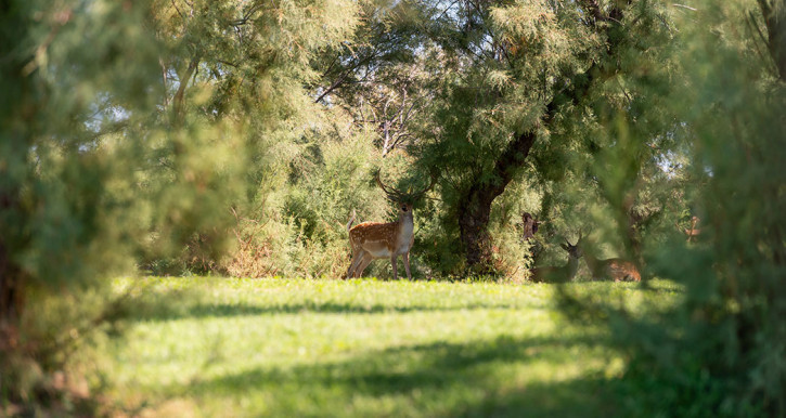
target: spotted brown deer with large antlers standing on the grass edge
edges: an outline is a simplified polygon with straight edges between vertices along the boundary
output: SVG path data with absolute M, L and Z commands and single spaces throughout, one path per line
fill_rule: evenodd
M 412 204 L 420 199 L 436 183 L 431 175 L 431 183 L 416 193 L 403 193 L 394 187 L 386 186 L 379 179 L 379 171 L 375 175 L 376 184 L 385 192 L 387 198 L 398 205 L 399 218 L 396 222 L 363 222 L 352 226 L 355 211 L 347 223 L 349 245 L 352 249 L 352 262 L 347 270 L 345 278 L 360 277 L 365 267 L 376 259 L 390 259 L 394 270 L 394 280 L 398 279 L 398 257 L 404 261 L 407 278 L 412 279 L 410 273 L 410 250 L 414 244 L 414 219 Z

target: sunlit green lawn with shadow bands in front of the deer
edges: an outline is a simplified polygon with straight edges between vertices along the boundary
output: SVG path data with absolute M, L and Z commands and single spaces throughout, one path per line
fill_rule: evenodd
M 634 284 L 575 290 L 634 305 Z M 660 284 L 669 287 L 668 284 Z M 121 279 L 142 309 L 102 370 L 146 416 L 607 416 L 622 368 L 553 285 Z M 659 292 L 668 302 L 678 292 Z

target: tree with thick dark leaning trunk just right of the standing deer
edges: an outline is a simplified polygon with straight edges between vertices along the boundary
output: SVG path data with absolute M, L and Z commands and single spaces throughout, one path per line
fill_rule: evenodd
M 438 34 L 453 74 L 434 109 L 439 132 L 422 159 L 463 173 L 453 174 L 451 205 L 467 264 L 482 272 L 490 265 L 494 199 L 536 145 L 559 151 L 584 136 L 565 135 L 566 120 L 602 122 L 603 115 L 592 114 L 591 90 L 634 71 L 668 24 L 649 2 L 455 4 Z

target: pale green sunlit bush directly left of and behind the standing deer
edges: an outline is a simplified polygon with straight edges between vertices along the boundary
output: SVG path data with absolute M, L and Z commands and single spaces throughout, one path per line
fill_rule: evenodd
M 230 274 L 337 277 L 348 267 L 351 213 L 355 224 L 388 218 L 390 205 L 372 180 L 379 154 L 368 132 L 325 120 L 296 148 L 278 191 L 261 190 L 259 209 L 241 217 Z

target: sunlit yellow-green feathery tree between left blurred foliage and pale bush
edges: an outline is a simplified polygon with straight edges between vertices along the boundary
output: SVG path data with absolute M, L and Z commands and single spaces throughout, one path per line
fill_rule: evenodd
M 172 123 L 191 118 L 231 125 L 237 134 L 231 145 L 234 165 L 247 165 L 245 178 L 233 186 L 243 188 L 250 205 L 223 199 L 217 213 L 229 218 L 231 206 L 236 220 L 265 222 L 280 210 L 268 195 L 285 187 L 284 161 L 296 157 L 295 144 L 325 125 L 307 89 L 319 75 L 310 64 L 346 41 L 356 23 L 356 5 L 340 0 L 308 6 L 289 1 L 153 3 L 152 26 L 166 45 L 159 62 Z M 188 267 L 226 272 L 216 251 L 226 236 L 226 228 L 199 231 L 185 254 Z

